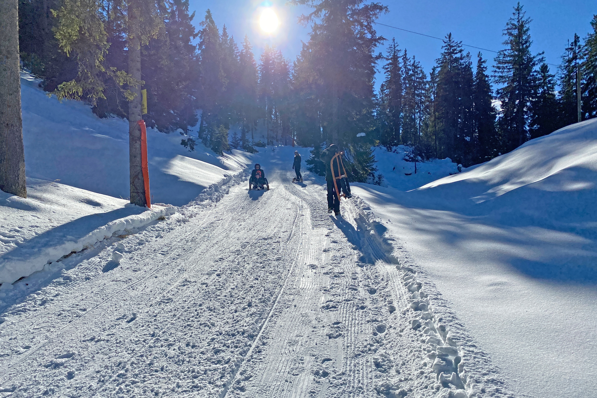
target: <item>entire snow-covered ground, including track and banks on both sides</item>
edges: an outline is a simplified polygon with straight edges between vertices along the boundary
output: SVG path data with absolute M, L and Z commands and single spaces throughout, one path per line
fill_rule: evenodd
M 154 202 L 179 206 L 149 211 L 116 199 L 126 122 L 24 78 L 29 198 L 0 197 L 0 248 L 41 271 L 0 286 L 0 397 L 597 396 L 597 121 L 439 180 L 456 165 L 377 148 L 384 186 L 340 217 L 322 177 L 291 182 L 296 148 L 149 130 Z

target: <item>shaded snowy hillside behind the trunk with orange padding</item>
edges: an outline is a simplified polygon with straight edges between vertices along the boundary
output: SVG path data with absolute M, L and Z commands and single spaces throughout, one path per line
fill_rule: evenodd
M 48 97 L 39 81 L 21 75 L 23 140 L 27 177 L 115 198 L 128 198 L 128 122 L 100 119 L 81 101 Z M 198 142 L 189 152 L 178 132 L 147 129 L 150 190 L 153 202 L 182 206 L 212 184 L 221 184 L 251 162 L 251 154 L 233 150 L 217 156 Z

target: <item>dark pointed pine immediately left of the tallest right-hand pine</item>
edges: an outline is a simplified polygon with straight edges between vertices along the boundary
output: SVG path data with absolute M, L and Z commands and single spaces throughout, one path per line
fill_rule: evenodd
M 487 75 L 487 60 L 477 54 L 475 86 L 473 89 L 474 117 L 474 163 L 487 162 L 497 156 L 496 109 L 493 106 L 493 92 Z

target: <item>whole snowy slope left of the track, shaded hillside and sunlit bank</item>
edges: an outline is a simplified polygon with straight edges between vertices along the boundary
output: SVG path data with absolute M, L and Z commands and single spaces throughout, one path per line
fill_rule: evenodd
M 106 236 L 141 228 L 174 211 L 127 205 L 128 122 L 100 119 L 80 101 L 59 102 L 21 75 L 28 198 L 0 191 L 0 285 L 10 283 Z M 181 135 L 147 129 L 153 203 L 183 206 L 214 198 L 252 155 L 195 152 Z M 219 194 L 216 194 L 219 196 Z

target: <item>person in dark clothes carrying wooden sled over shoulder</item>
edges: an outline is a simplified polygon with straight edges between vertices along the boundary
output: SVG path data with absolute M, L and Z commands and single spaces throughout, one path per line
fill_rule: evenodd
M 328 185 L 328 213 L 340 214 L 340 197 L 352 198 L 350 184 L 346 177 L 346 168 L 342 162 L 342 154 L 336 144 L 325 149 L 319 159 L 325 163 L 325 181 Z

